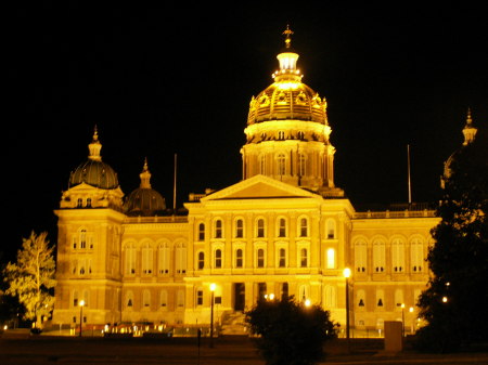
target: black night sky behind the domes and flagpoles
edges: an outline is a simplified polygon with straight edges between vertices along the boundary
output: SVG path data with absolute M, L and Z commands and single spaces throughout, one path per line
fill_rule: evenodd
M 0 261 L 31 230 L 55 242 L 53 209 L 95 125 L 126 195 L 145 157 L 169 207 L 175 154 L 178 207 L 239 182 L 249 101 L 272 83 L 286 24 L 303 81 L 328 99 L 335 182 L 355 206 L 408 200 L 408 144 L 412 199 L 435 201 L 468 107 L 478 133 L 488 129 L 480 5 L 100 3 L 33 1 L 4 14 Z

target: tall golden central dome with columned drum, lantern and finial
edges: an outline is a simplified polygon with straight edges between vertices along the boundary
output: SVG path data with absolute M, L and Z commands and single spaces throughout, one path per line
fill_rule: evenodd
M 264 174 L 330 196 L 343 196 L 334 185 L 334 153 L 326 101 L 301 82 L 287 28 L 285 49 L 277 56 L 274 82 L 252 99 L 246 144 L 242 147 L 243 178 Z

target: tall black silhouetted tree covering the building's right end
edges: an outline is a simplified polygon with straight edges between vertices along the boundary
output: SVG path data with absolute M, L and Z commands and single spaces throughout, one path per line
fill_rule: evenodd
M 419 300 L 427 323 L 416 334 L 419 349 L 446 352 L 488 339 L 486 146 L 477 139 L 450 159 L 427 257 L 433 276 Z

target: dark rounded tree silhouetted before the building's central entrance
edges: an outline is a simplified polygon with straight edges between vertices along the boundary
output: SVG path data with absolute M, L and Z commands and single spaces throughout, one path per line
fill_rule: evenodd
M 323 346 L 336 336 L 330 313 L 319 305 L 304 307 L 293 297 L 261 299 L 246 322 L 258 335 L 256 344 L 267 365 L 312 365 L 324 356 Z

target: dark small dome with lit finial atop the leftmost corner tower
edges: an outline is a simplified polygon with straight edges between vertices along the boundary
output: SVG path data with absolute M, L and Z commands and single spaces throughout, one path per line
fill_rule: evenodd
M 119 186 L 117 173 L 110 165 L 103 162 L 100 156 L 102 144 L 99 142 L 97 128 L 93 134 L 93 141 L 88 145 L 88 148 L 90 151 L 88 160 L 79 165 L 72 172 L 69 186 L 86 183 L 104 190 L 117 188 Z

